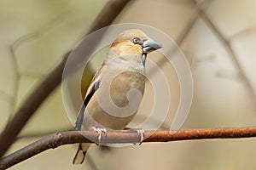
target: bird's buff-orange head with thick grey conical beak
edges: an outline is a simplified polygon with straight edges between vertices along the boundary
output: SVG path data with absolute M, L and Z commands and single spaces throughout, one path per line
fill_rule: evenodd
M 122 59 L 142 61 L 144 65 L 147 54 L 159 48 L 162 48 L 160 42 L 154 41 L 143 31 L 131 29 L 121 32 L 110 50 Z

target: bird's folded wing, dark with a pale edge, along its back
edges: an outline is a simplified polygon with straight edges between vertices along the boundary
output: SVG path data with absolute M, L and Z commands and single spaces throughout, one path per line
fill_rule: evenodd
M 102 64 L 102 67 L 105 65 L 105 63 Z M 89 88 L 87 89 L 87 93 L 86 93 L 86 97 L 84 99 L 83 105 L 81 106 L 81 109 L 79 111 L 79 116 L 77 118 L 77 121 L 75 123 L 75 129 L 76 130 L 81 130 L 82 129 L 82 124 L 84 121 L 84 111 L 86 106 L 88 105 L 88 103 L 90 102 L 91 97 L 93 96 L 93 94 L 95 94 L 96 90 L 100 87 L 100 83 L 101 83 L 101 71 L 102 71 L 102 67 L 101 69 L 99 69 L 95 76 L 93 77 Z

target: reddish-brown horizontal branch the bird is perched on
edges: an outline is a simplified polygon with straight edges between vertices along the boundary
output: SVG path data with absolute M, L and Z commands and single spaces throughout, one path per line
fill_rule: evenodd
M 194 139 L 236 139 L 256 137 L 256 127 L 220 127 L 212 129 L 186 129 L 178 131 L 146 131 L 146 142 L 170 142 Z M 87 137 L 87 139 L 85 138 Z M 137 131 L 109 131 L 102 135 L 102 144 L 139 143 Z M 44 150 L 55 149 L 64 144 L 93 143 L 97 141 L 94 131 L 69 131 L 50 134 L 43 139 L 27 145 L 0 160 L 0 169 L 11 167 L 20 161 L 35 156 Z

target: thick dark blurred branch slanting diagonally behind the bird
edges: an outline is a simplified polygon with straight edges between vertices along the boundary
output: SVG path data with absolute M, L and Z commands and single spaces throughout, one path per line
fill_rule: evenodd
M 90 32 L 110 25 L 116 16 L 125 8 L 129 0 L 111 0 L 102 9 L 95 22 L 90 28 Z M 96 46 L 96 44 L 94 44 Z M 93 48 L 90 49 L 91 51 Z M 53 71 L 44 79 L 44 81 L 33 90 L 32 94 L 23 102 L 20 109 L 15 113 L 15 116 L 4 128 L 3 133 L 0 134 L 0 157 L 9 149 L 9 146 L 15 142 L 20 130 L 25 126 L 38 107 L 44 102 L 49 94 L 61 83 L 62 71 L 64 69 L 68 54 L 65 54 L 64 59 Z M 90 52 L 86 52 L 90 54 Z

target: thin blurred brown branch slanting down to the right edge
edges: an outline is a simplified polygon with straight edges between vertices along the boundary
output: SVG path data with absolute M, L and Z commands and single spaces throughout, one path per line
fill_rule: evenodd
M 194 3 L 196 4 L 196 1 L 193 0 Z M 224 46 L 227 49 L 227 52 L 230 54 L 231 58 L 233 59 L 236 68 L 240 72 L 241 78 L 244 80 L 245 84 L 247 85 L 249 94 L 252 96 L 253 99 L 253 107 L 256 109 L 256 90 L 253 88 L 253 83 L 250 81 L 250 78 L 247 77 L 246 71 L 244 71 L 238 56 L 236 55 L 234 49 L 232 48 L 231 42 L 228 41 L 228 39 L 224 36 L 224 34 L 218 29 L 217 26 L 214 25 L 210 17 L 207 15 L 205 12 L 204 8 L 201 8 L 201 11 L 199 13 L 201 15 L 201 18 L 206 22 L 207 26 L 209 26 L 212 31 L 218 36 L 218 39 L 223 42 Z

